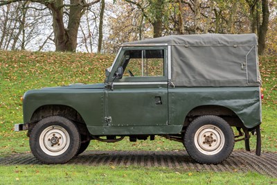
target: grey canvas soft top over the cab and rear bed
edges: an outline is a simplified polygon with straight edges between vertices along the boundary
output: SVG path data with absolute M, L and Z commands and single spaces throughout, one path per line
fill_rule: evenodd
M 123 46 L 168 45 L 171 82 L 186 87 L 260 86 L 255 34 L 170 35 Z

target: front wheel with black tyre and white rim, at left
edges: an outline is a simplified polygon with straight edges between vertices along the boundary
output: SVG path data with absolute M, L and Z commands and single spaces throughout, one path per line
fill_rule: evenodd
M 39 121 L 30 132 L 30 150 L 44 164 L 64 164 L 80 148 L 80 132 L 69 119 L 50 116 Z

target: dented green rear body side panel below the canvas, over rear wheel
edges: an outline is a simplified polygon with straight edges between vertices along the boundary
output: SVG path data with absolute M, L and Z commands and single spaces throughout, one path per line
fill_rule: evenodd
M 169 124 L 182 125 L 190 110 L 202 105 L 227 107 L 248 128 L 261 123 L 259 87 L 175 87 L 168 89 Z

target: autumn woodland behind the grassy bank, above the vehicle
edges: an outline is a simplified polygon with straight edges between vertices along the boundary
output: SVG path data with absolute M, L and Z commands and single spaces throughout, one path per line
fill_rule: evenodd
M 172 34 L 256 33 L 277 53 L 276 0 L 0 0 L 0 49 L 115 53 Z

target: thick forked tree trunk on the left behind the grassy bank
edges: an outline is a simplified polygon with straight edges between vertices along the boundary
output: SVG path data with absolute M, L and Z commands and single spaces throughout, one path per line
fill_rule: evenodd
M 27 0 L 1 0 L 0 6 Z M 71 0 L 66 3 L 63 0 L 46 1 L 32 0 L 41 3 L 52 12 L 54 42 L 56 51 L 75 51 L 77 47 L 78 28 L 84 12 L 100 0 L 87 2 L 85 0 Z M 64 22 L 66 20 L 66 22 Z

